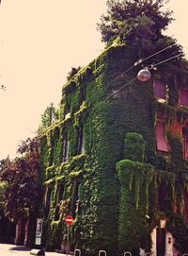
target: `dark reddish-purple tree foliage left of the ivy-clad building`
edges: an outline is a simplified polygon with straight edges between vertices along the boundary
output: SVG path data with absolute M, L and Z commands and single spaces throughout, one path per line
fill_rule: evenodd
M 22 142 L 18 152 L 22 157 L 13 161 L 7 160 L 1 172 L 1 179 L 8 184 L 5 213 L 15 220 L 37 211 L 41 192 L 38 139 Z

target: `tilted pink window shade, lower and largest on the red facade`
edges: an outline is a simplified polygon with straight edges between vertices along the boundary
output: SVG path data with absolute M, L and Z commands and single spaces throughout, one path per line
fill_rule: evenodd
M 160 151 L 168 152 L 167 143 L 165 139 L 165 123 L 163 121 L 157 121 L 156 139 L 157 149 Z

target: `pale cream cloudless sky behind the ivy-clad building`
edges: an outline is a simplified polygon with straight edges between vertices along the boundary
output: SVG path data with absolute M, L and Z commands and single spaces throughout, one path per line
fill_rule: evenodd
M 58 105 L 71 67 L 102 51 L 96 23 L 106 0 L 2 0 L 0 6 L 0 159 L 15 157 L 19 142 L 33 137 L 40 115 Z M 188 53 L 187 0 L 170 0 L 167 34 Z

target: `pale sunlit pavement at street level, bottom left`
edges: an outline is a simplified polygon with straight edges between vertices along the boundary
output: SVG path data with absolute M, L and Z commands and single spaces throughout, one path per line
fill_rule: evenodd
M 9 244 L 0 244 L 0 256 L 31 256 L 30 254 L 31 248 L 24 246 L 15 246 Z M 53 251 L 45 251 L 45 256 L 66 256 L 66 254 L 53 252 Z M 72 256 L 72 255 L 69 255 Z

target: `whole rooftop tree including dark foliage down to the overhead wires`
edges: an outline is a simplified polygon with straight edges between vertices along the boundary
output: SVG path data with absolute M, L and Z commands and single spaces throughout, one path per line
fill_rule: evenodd
M 144 59 L 173 44 L 173 47 L 168 48 L 163 55 L 145 61 L 146 66 L 179 54 L 183 56 L 182 47 L 177 41 L 163 35 L 163 31 L 174 20 L 171 17 L 172 11 L 163 11 L 164 4 L 168 1 L 108 0 L 107 12 L 101 16 L 101 23 L 98 24 L 102 42 L 107 46 L 112 43 L 125 43 L 135 50 L 139 59 Z M 177 59 L 170 62 L 173 66 L 180 65 Z

